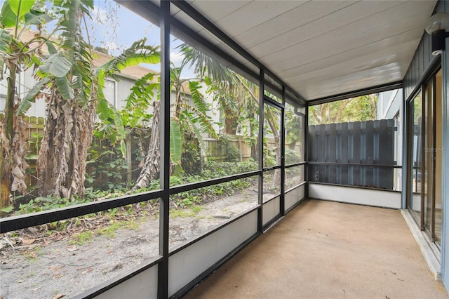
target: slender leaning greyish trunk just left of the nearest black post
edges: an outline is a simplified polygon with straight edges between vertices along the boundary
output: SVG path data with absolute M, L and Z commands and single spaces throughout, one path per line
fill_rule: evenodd
M 159 126 L 159 106 L 160 102 L 153 103 L 153 122 L 152 133 L 150 135 L 147 157 L 145 157 L 145 164 L 140 171 L 139 178 L 130 192 L 134 192 L 140 188 L 148 187 L 152 180 L 159 178 L 159 162 L 161 160 L 160 148 L 160 126 Z

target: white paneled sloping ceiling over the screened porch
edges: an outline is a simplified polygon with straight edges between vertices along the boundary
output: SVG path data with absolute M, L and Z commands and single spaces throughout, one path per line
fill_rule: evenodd
M 306 100 L 401 81 L 436 4 L 436 0 L 188 2 Z M 175 18 L 210 36 L 182 13 Z M 220 41 L 213 42 L 220 46 Z

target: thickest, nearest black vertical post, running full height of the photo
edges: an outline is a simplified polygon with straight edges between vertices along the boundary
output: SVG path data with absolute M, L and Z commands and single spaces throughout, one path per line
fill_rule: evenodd
M 170 1 L 161 1 L 161 161 L 160 186 L 162 196 L 159 199 L 159 255 L 162 256 L 158 267 L 159 299 L 168 298 L 168 220 L 170 209 Z

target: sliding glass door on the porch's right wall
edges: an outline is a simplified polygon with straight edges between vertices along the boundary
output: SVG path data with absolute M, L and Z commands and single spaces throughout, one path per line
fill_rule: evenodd
M 441 244 L 441 69 L 408 102 L 408 208 L 421 230 Z

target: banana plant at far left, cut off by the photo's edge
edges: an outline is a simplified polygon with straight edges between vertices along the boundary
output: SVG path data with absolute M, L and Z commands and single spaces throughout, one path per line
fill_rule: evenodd
M 6 79 L 6 105 L 0 126 L 0 209 L 10 204 L 13 194 L 25 194 L 25 128 L 18 114 L 20 95 L 16 92 L 19 72 L 39 64 L 39 51 L 46 38 L 37 34 L 29 41 L 20 39 L 32 25 L 38 29 L 51 17 L 34 9 L 34 0 L 6 0 L 0 11 L 0 80 Z M 4 76 L 6 78 L 4 78 Z M 1 213 L 1 212 L 0 212 Z

